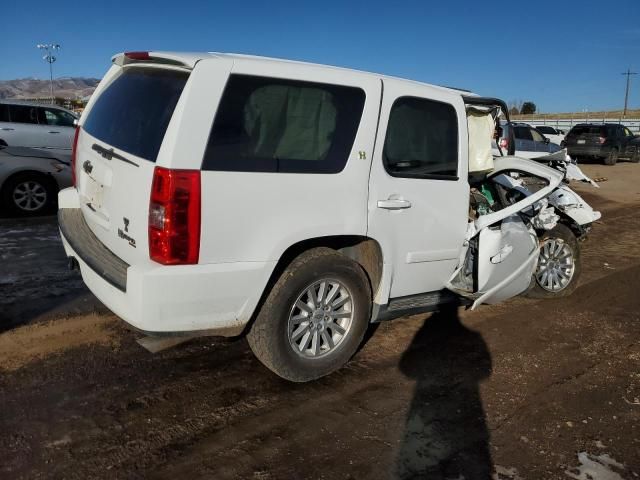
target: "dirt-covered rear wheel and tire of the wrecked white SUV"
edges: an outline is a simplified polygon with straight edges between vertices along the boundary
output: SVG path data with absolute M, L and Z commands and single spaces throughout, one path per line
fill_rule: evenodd
M 310 300 L 310 290 L 315 300 Z M 327 301 L 342 303 L 327 312 Z M 258 360 L 275 374 L 292 382 L 308 382 L 349 361 L 370 318 L 371 287 L 362 267 L 335 250 L 314 248 L 296 257 L 282 273 L 247 340 Z

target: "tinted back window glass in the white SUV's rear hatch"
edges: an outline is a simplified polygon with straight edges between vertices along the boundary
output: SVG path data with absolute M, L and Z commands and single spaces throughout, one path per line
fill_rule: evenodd
M 98 97 L 83 128 L 112 147 L 155 162 L 188 78 L 175 70 L 125 69 Z

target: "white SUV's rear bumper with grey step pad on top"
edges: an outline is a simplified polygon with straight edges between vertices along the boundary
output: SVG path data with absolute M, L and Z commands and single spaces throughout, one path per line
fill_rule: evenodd
M 65 252 L 78 261 L 91 292 L 116 315 L 149 335 L 242 333 L 275 262 L 127 265 L 100 243 L 86 223 L 83 227 L 80 209 L 73 208 L 74 195 L 77 198 L 74 189 L 60 193 Z

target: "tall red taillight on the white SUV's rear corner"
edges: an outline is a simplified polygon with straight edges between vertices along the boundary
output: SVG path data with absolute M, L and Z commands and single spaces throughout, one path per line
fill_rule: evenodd
M 156 167 L 149 204 L 149 256 L 163 265 L 198 263 L 200 170 Z

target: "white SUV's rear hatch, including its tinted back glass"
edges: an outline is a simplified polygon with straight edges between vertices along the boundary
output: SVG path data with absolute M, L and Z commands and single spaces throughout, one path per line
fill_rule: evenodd
M 114 66 L 81 122 L 75 171 L 83 215 L 96 237 L 129 264 L 149 261 L 155 161 L 189 75 L 175 64 Z

